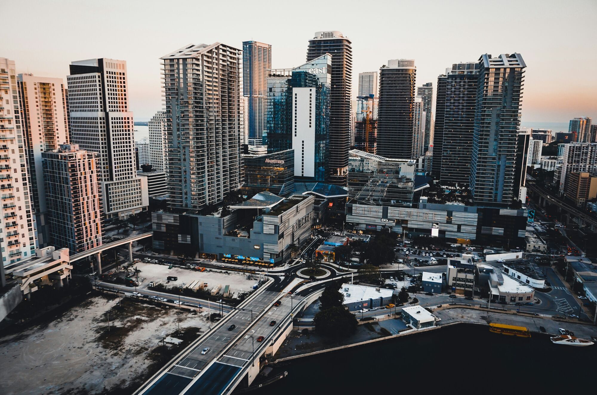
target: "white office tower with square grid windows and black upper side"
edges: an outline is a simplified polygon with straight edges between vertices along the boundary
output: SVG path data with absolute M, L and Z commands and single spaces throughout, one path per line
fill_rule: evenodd
M 128 108 L 127 62 L 108 58 L 73 61 L 66 79 L 70 143 L 98 154 L 106 219 L 146 211 L 147 186 L 137 177 L 133 113 Z

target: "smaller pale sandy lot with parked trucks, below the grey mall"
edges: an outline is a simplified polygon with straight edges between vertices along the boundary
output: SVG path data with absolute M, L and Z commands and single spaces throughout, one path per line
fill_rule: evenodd
M 249 280 L 247 273 L 239 273 L 236 271 L 225 270 L 205 270 L 199 271 L 194 269 L 183 269 L 181 267 L 173 267 L 168 269 L 166 265 L 153 263 L 139 263 L 135 265 L 137 269 L 141 270 L 139 273 L 140 287 L 147 288 L 150 281 L 166 282 L 166 277 L 179 277 L 177 281 L 171 281 L 168 286 L 188 286 L 195 280 L 207 283 L 208 288 L 221 284 L 222 289 L 226 285 L 230 285 L 230 297 L 236 297 L 241 292 L 248 292 L 253 290 L 253 285 L 257 283 L 257 276 L 253 275 L 253 280 Z M 263 277 L 262 277 L 263 278 Z

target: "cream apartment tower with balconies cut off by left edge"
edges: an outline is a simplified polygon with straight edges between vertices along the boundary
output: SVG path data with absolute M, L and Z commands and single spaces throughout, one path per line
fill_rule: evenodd
M 36 246 L 18 89 L 14 61 L 0 58 L 0 198 L 2 198 L 0 219 L 2 264 L 0 266 L 2 268 L 35 254 Z M 58 103 L 56 104 L 58 109 Z M 4 283 L 3 269 L 0 270 L 0 276 Z

